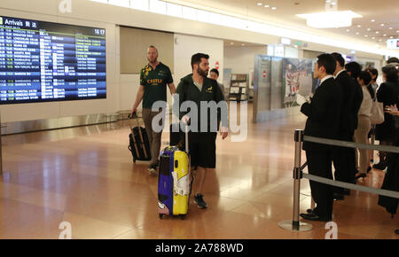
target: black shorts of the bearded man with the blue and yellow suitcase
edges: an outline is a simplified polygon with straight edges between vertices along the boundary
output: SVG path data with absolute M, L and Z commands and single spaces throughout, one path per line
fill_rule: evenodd
M 192 167 L 216 167 L 216 136 L 217 133 L 189 133 L 189 150 Z

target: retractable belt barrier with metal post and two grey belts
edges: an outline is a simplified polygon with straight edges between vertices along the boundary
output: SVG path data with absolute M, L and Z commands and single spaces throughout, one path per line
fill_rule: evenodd
M 399 153 L 399 147 L 389 146 L 389 145 L 375 145 L 375 144 L 357 144 L 353 142 L 346 142 L 340 140 L 333 140 L 328 138 L 320 138 L 315 136 L 304 136 L 303 130 L 297 129 L 294 134 L 295 138 L 295 157 L 294 157 L 294 167 L 293 167 L 293 220 L 286 220 L 278 223 L 278 226 L 285 230 L 291 231 L 308 231 L 312 230 L 313 226 L 309 223 L 300 222 L 299 212 L 300 212 L 300 191 L 301 191 L 301 178 L 306 178 L 311 181 L 316 181 L 318 183 L 325 183 L 332 186 L 345 188 L 355 191 L 364 191 L 372 194 L 378 194 L 390 198 L 399 199 L 398 191 L 387 191 L 382 189 L 376 189 L 372 187 L 357 185 L 353 183 L 343 183 L 339 181 L 334 181 L 332 179 L 327 179 L 325 177 L 305 174 L 302 170 L 307 166 L 307 162 L 301 165 L 301 149 L 303 141 L 318 143 L 318 144 L 328 144 L 341 147 L 350 148 L 360 148 L 360 149 L 370 149 L 378 150 L 380 152 L 395 152 Z

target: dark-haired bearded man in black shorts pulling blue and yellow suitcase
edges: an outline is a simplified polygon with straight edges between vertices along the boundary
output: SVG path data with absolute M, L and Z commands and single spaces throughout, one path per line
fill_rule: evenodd
M 222 138 L 228 136 L 227 104 L 217 82 L 207 78 L 208 59 L 209 56 L 203 53 L 192 56 L 192 74 L 185 76 L 178 84 L 174 102 L 174 110 L 178 108 L 177 110 L 182 111 L 184 108 L 180 107 L 183 104 L 189 106 L 187 111 L 190 109 L 190 112 L 178 112 L 178 117 L 185 123 L 190 122 L 189 150 L 192 167 L 197 167 L 194 201 L 200 208 L 207 207 L 202 194 L 207 170 L 215 168 L 216 165 L 216 136 L 219 119 L 222 121 L 220 129 Z M 211 105 L 214 108 L 204 108 Z M 193 109 L 198 112 L 193 112 Z M 216 116 L 217 119 L 215 119 Z M 204 124 L 206 121 L 207 124 Z

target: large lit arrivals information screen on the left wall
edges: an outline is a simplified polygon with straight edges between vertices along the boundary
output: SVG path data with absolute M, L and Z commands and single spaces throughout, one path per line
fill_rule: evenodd
M 0 104 L 106 98 L 106 30 L 0 16 Z

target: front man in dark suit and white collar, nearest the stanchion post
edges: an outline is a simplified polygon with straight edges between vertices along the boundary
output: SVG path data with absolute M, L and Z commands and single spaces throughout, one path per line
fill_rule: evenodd
M 308 116 L 305 136 L 338 138 L 340 125 L 340 108 L 342 105 L 342 90 L 335 82 L 332 74 L 336 62 L 330 54 L 317 57 L 314 77 L 320 80 L 315 95 L 310 103 L 301 105 L 301 113 Z M 326 144 L 304 142 L 309 174 L 332 179 L 332 147 Z M 328 222 L 332 220 L 332 186 L 310 181 L 312 198 L 317 204 L 309 214 L 301 217 L 311 221 Z

